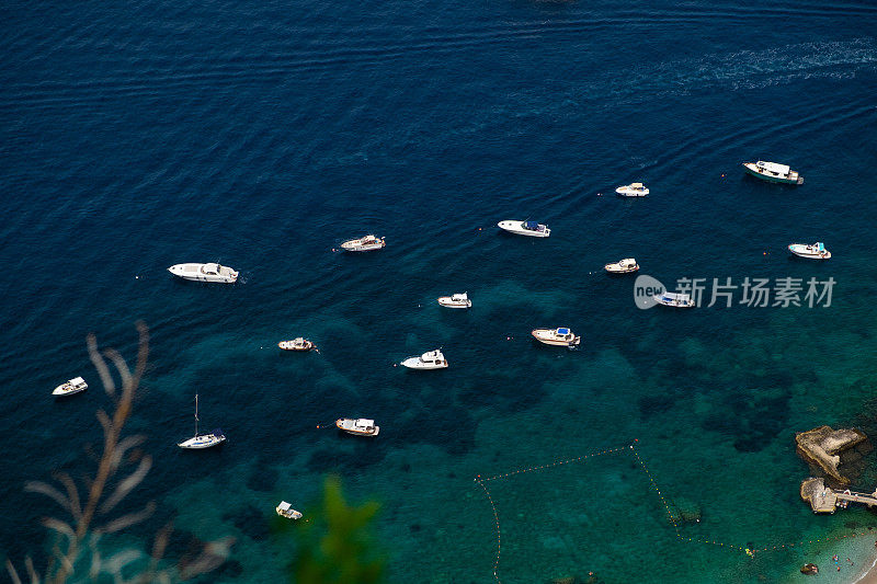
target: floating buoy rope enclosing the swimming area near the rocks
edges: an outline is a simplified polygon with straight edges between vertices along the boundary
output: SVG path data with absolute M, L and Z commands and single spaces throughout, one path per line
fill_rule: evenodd
M 497 557 L 493 560 L 493 577 L 494 577 L 494 580 L 497 581 L 498 584 L 501 584 L 500 576 L 499 576 L 499 565 L 500 565 L 500 552 L 502 550 L 502 546 L 501 546 L 502 537 L 501 537 L 501 531 L 500 531 L 500 516 L 499 516 L 499 511 L 497 509 L 497 503 L 493 501 L 493 497 L 490 494 L 490 490 L 488 489 L 487 483 L 490 482 L 490 481 L 498 481 L 498 480 L 501 480 L 501 479 L 508 479 L 510 477 L 515 477 L 517 474 L 524 474 L 524 473 L 527 473 L 527 472 L 535 472 L 537 470 L 547 470 L 547 469 L 551 469 L 551 468 L 555 468 L 555 467 L 559 467 L 561 465 L 569 465 L 569 463 L 572 463 L 572 462 L 582 462 L 584 460 L 588 460 L 589 458 L 595 458 L 595 457 L 599 457 L 599 456 L 617 454 L 617 453 L 622 453 L 622 451 L 629 451 L 634 456 L 634 459 L 636 460 L 636 462 L 639 466 L 639 468 L 642 469 L 642 471 L 646 473 L 646 477 L 648 477 L 649 484 L 651 485 L 651 489 L 654 490 L 654 492 L 658 494 L 658 499 L 660 499 L 661 504 L 663 505 L 664 511 L 667 512 L 667 516 L 670 519 L 670 523 L 673 525 L 673 530 L 674 530 L 674 533 L 676 535 L 676 539 L 679 539 L 680 541 L 688 541 L 688 542 L 693 542 L 693 543 L 707 543 L 707 545 L 716 546 L 716 547 L 719 547 L 719 548 L 722 548 L 722 549 L 728 549 L 728 550 L 731 550 L 731 551 L 734 551 L 734 552 L 738 552 L 738 551 L 739 552 L 744 552 L 750 557 L 754 557 L 755 552 L 779 551 L 779 550 L 784 550 L 784 549 L 787 549 L 787 548 L 791 549 L 791 548 L 795 548 L 795 547 L 802 547 L 802 546 L 808 545 L 808 543 L 831 543 L 831 542 L 840 541 L 840 540 L 847 539 L 847 538 L 865 537 L 865 536 L 868 536 L 868 535 L 872 536 L 872 537 L 875 537 L 875 539 L 877 539 L 877 531 L 867 530 L 867 531 L 862 531 L 862 533 L 844 534 L 844 535 L 821 537 L 821 538 L 817 538 L 817 539 L 795 541 L 795 542 L 790 542 L 790 543 L 781 543 L 781 545 L 777 545 L 777 546 L 764 546 L 764 547 L 751 546 L 750 547 L 750 546 L 738 546 L 736 543 L 728 543 L 728 542 L 725 542 L 725 541 L 718 541 L 718 540 L 715 540 L 715 539 L 706 539 L 706 538 L 702 538 L 702 537 L 686 537 L 686 536 L 682 535 L 682 533 L 680 531 L 679 518 L 673 514 L 673 511 L 672 511 L 670 504 L 664 499 L 664 495 L 661 492 L 661 490 L 659 489 L 658 483 L 656 482 L 654 478 L 651 474 L 651 471 L 646 466 L 646 462 L 642 460 L 642 457 L 639 456 L 639 453 L 636 449 L 636 444 L 638 442 L 639 440 L 635 439 L 633 444 L 629 444 L 627 446 L 622 446 L 622 447 L 618 447 L 618 448 L 607 448 L 605 450 L 601 450 L 601 451 L 597 451 L 597 453 L 591 453 L 591 454 L 579 456 L 579 457 L 574 457 L 574 458 L 567 458 L 565 460 L 557 460 L 555 462 L 549 462 L 549 463 L 546 463 L 546 465 L 538 465 L 538 466 L 535 466 L 535 467 L 527 467 L 527 468 L 522 468 L 522 469 L 517 469 L 517 470 L 512 470 L 510 472 L 505 472 L 505 473 L 502 473 L 502 474 L 496 474 L 493 477 L 481 477 L 480 474 L 478 474 L 475 478 L 475 482 L 477 482 L 478 485 L 481 486 L 481 489 L 483 489 L 485 495 L 487 495 L 487 499 L 490 502 L 490 506 L 493 509 L 493 520 L 494 520 L 496 529 L 497 529 Z

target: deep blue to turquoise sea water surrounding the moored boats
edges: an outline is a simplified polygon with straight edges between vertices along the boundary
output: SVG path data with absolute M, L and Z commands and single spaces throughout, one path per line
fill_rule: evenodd
M 877 525 L 864 511 L 813 517 L 793 440 L 824 423 L 875 426 L 877 5 L 2 12 L 0 549 L 18 563 L 42 553 L 38 517 L 60 513 L 24 482 L 93 468 L 84 447 L 100 445 L 94 411 L 109 400 L 86 335 L 133 359 L 137 319 L 151 353 L 129 431 L 155 465 L 130 499 L 159 512 L 133 535 L 175 517 L 186 537 L 235 536 L 213 582 L 276 582 L 263 517 L 281 499 L 310 501 L 327 472 L 384 502 L 391 581 L 491 582 L 494 522 L 472 478 L 634 438 L 662 492 L 703 509 L 684 537 L 770 547 Z M 740 162 L 759 158 L 806 183 L 745 176 Z M 612 195 L 637 180 L 649 197 Z M 509 218 L 553 234 L 498 232 Z M 367 232 L 387 248 L 332 251 Z M 788 259 L 788 243 L 816 240 L 831 262 Z M 633 279 L 601 271 L 626 256 L 665 284 L 838 285 L 830 308 L 641 311 Z M 241 282 L 166 272 L 190 261 Z M 434 304 L 464 290 L 470 311 Z M 528 340 L 559 325 L 583 334 L 581 350 Z M 298 335 L 321 353 L 276 350 Z M 447 370 L 394 367 L 437 346 Z M 88 392 L 49 398 L 77 375 Z M 204 424 L 230 437 L 219 451 L 175 447 L 196 392 Z M 375 417 L 379 438 L 316 430 L 340 415 Z M 503 582 L 589 570 L 630 582 L 668 554 L 656 581 L 783 581 L 824 551 L 750 560 L 681 540 L 630 460 L 600 460 L 498 483 Z M 877 470 L 861 481 L 873 490 Z M 744 505 L 741 485 L 758 493 Z

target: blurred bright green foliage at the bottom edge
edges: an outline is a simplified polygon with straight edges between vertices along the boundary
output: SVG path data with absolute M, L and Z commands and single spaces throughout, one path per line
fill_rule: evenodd
M 296 584 L 385 582 L 386 556 L 369 531 L 379 505 L 349 505 L 338 477 L 327 477 L 322 502 L 295 522 L 297 553 L 288 574 Z

